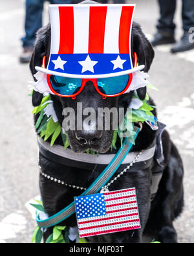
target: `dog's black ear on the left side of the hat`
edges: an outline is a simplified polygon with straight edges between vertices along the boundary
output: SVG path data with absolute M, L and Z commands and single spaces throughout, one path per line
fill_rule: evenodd
M 30 71 L 33 76 L 37 73 L 35 67 L 36 66 L 41 67 L 44 56 L 47 57 L 46 58 L 46 65 L 47 65 L 49 52 L 50 52 L 50 24 L 39 29 L 37 32 L 34 52 L 30 60 Z M 34 78 L 34 80 L 36 81 L 36 78 Z M 39 104 L 41 104 L 42 99 L 43 99 L 43 95 L 41 93 L 39 93 L 38 91 L 33 91 L 33 94 L 32 94 L 33 106 L 39 106 Z

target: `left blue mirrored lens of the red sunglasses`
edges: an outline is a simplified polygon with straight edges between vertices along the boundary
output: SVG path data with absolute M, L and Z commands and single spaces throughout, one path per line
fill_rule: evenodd
M 50 76 L 52 89 L 61 95 L 74 95 L 81 87 L 82 79 Z

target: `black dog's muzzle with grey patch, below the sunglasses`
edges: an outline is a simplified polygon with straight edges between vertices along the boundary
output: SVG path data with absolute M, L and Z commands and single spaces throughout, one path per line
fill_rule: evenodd
M 67 132 L 70 148 L 76 153 L 107 152 L 118 128 L 118 97 L 104 100 L 92 82 L 88 82 L 75 100 L 60 100 L 62 127 Z

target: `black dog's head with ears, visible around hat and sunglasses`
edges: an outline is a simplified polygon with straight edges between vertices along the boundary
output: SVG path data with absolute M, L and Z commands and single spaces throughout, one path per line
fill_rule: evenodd
M 88 2 L 88 1 L 87 1 Z M 138 56 L 138 64 L 145 65 L 144 71 L 147 72 L 154 58 L 154 51 L 151 44 L 147 40 L 146 36 L 140 29 L 140 25 L 133 23 L 132 39 L 131 39 L 131 52 L 136 52 Z M 46 56 L 46 65 L 50 55 L 50 25 L 43 27 L 38 31 L 36 45 L 34 53 L 30 62 L 30 69 L 32 75 L 36 74 L 35 66 L 41 66 L 43 56 Z M 134 56 L 132 53 L 134 62 Z M 138 97 L 145 99 L 146 88 L 140 88 L 137 90 Z M 99 108 L 106 110 L 118 110 L 118 108 L 127 108 L 133 96 L 133 92 L 126 93 L 119 97 L 112 97 L 103 99 L 100 94 L 94 88 L 91 81 L 87 82 L 83 91 L 76 97 L 75 100 L 71 98 L 58 97 L 51 95 L 54 102 L 54 109 L 61 125 L 64 125 L 64 120 L 69 113 L 65 113 L 64 110 L 71 108 L 74 110 L 75 126 L 74 130 L 67 132 L 69 137 L 69 143 L 74 152 L 85 152 L 87 149 L 92 149 L 100 153 L 105 153 L 109 150 L 113 139 L 113 117 L 110 115 L 110 129 L 105 129 L 105 115 L 102 116 L 103 124 L 99 129 L 98 118 Z M 34 91 L 32 95 L 32 104 L 38 106 L 41 103 L 43 95 Z M 80 104 L 78 104 L 80 103 Z M 81 107 L 81 110 L 80 110 Z M 91 110 L 92 114 L 91 115 Z M 81 112 L 80 112 L 81 111 Z M 114 113 L 114 111 L 113 111 Z M 117 112 L 118 113 L 118 112 Z M 82 114 L 82 121 L 80 116 Z M 101 113 L 102 114 L 102 113 Z M 85 119 L 92 116 L 92 119 Z M 117 117 L 118 118 L 118 117 Z M 82 128 L 78 129 L 78 119 L 82 124 Z M 87 122 L 86 122 L 87 120 Z

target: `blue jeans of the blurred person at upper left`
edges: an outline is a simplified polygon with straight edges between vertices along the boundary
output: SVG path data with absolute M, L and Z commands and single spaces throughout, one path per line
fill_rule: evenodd
M 42 13 L 45 0 L 26 0 L 25 37 L 23 47 L 33 47 L 36 32 L 42 27 Z M 49 0 L 51 4 L 69 4 L 72 0 Z

